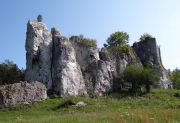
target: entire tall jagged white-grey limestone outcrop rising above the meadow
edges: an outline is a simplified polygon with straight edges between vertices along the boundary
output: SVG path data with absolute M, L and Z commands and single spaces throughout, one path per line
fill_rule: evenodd
M 161 76 L 158 87 L 171 83 L 156 41 L 135 43 L 126 47 L 128 52 L 116 54 L 88 44 L 82 36 L 63 37 L 56 28 L 50 34 L 41 21 L 29 21 L 27 26 L 26 80 L 40 81 L 61 96 L 106 95 L 120 88 L 129 64 L 156 68 Z

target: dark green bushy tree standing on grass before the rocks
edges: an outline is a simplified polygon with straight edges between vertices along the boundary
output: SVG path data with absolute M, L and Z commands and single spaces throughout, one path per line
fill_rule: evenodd
M 132 85 L 131 91 L 134 93 L 141 92 L 142 87 L 145 87 L 146 92 L 150 92 L 151 85 L 159 81 L 159 77 L 153 69 L 137 65 L 127 66 L 123 72 L 123 79 Z

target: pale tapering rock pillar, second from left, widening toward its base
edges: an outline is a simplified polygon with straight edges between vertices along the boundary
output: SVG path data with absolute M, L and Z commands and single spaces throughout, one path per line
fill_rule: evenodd
M 86 95 L 86 87 L 75 50 L 69 39 L 53 37 L 53 75 L 54 88 L 61 96 Z

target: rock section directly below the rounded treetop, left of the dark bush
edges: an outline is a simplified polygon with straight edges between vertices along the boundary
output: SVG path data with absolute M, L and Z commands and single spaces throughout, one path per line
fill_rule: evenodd
M 135 64 L 142 66 L 136 53 L 129 47 L 126 53 L 112 53 L 109 49 L 102 48 L 100 52 L 100 59 L 106 62 L 109 72 L 112 74 L 113 89 L 117 90 L 123 85 L 122 73 L 127 65 Z

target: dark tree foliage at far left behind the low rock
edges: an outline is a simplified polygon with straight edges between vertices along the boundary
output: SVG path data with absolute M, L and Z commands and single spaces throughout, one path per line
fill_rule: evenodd
M 5 60 L 0 64 L 0 85 L 12 84 L 24 80 L 24 70 L 19 69 L 10 60 Z

